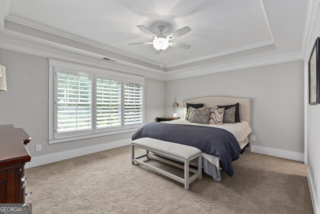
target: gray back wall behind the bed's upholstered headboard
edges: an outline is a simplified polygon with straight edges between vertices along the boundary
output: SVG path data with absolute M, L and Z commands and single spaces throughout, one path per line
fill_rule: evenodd
M 165 81 L 165 110 L 173 99 L 251 97 L 253 145 L 304 152 L 303 61 L 292 61 Z M 232 104 L 232 103 L 230 103 Z M 182 106 L 176 109 L 182 116 Z

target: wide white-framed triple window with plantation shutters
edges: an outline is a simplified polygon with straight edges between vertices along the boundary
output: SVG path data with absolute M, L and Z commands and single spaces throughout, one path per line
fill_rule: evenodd
M 143 77 L 81 65 L 66 67 L 73 69 L 50 67 L 49 143 L 133 131 L 143 124 Z

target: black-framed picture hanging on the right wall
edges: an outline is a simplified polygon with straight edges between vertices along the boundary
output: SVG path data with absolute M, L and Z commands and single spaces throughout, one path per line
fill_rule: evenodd
M 320 103 L 320 38 L 315 39 L 309 58 L 309 104 Z

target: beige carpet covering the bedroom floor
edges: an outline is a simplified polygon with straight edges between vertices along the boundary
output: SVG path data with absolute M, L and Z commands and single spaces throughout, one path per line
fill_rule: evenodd
M 187 191 L 131 165 L 130 147 L 123 146 L 26 169 L 26 201 L 33 213 L 312 213 L 302 162 L 244 152 L 233 169 L 232 177 L 222 172 L 221 182 L 203 174 Z

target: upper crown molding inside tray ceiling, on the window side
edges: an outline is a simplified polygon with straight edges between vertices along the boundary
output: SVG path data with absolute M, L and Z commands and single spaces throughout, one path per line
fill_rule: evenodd
M 19 15 L 10 13 L 9 11 L 6 11 L 6 13 L 8 13 L 8 14 L 4 17 L 4 20 L 11 21 L 11 22 L 18 23 L 18 24 L 22 24 L 24 26 L 28 26 L 28 27 L 31 27 L 31 28 L 34 28 L 34 29 L 38 29 L 38 30 L 41 30 L 41 31 L 44 31 L 44 32 L 47 32 L 47 33 L 51 33 L 51 34 L 54 34 L 54 35 L 57 35 L 57 36 L 62 36 L 64 38 L 72 39 L 72 40 L 77 41 L 77 42 L 81 42 L 81 43 L 88 44 L 88 45 L 91 45 L 91 46 L 94 46 L 94 47 L 97 47 L 97 48 L 105 49 L 105 50 L 108 50 L 108 51 L 111 51 L 111 52 L 114 52 L 114 53 L 117 53 L 117 54 L 121 54 L 121 55 L 126 56 L 126 57 L 138 59 L 138 60 L 153 64 L 153 65 L 157 65 L 157 66 L 160 65 L 160 63 L 157 62 L 157 61 L 153 61 L 153 60 L 150 60 L 148 58 L 144 58 L 142 56 L 138 56 L 138 55 L 129 53 L 127 51 L 123 51 L 123 50 L 117 49 L 115 47 L 112 47 L 112 46 L 109 46 L 109 45 L 105 45 L 103 43 L 100 43 L 100 42 L 97 42 L 97 41 L 93 41 L 91 39 L 87 39 L 87 38 L 84 38 L 82 36 L 78 36 L 78 35 L 66 32 L 64 30 L 57 29 L 55 27 L 48 26 L 48 25 L 40 23 L 40 22 L 21 17 Z M 106 57 L 108 57 L 108 56 L 106 55 Z M 166 66 L 167 65 L 162 64 L 162 67 L 166 67 Z

